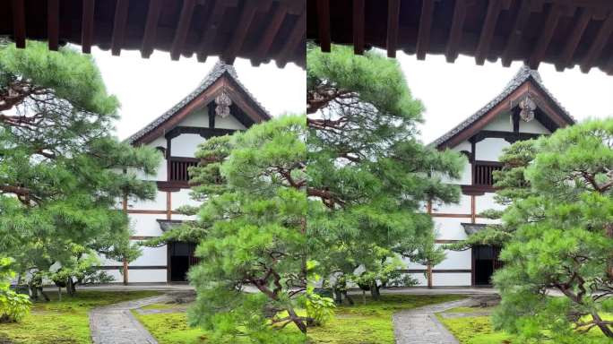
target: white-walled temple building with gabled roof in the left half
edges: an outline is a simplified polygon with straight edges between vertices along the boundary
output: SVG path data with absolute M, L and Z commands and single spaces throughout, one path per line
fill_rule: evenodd
M 168 228 L 189 219 L 177 213 L 183 205 L 197 205 L 190 198 L 188 168 L 197 164 L 194 153 L 198 144 L 212 136 L 245 130 L 270 119 L 245 86 L 238 81 L 233 66 L 218 62 L 212 71 L 185 99 L 144 126 L 127 140 L 134 146 L 147 145 L 163 154 L 157 176 L 142 176 L 158 185 L 155 200 L 126 200 L 122 207 L 130 218 L 134 241 L 160 236 Z M 194 244 L 175 242 L 150 248 L 127 266 L 130 283 L 181 282 L 197 262 Z M 124 280 L 123 262 L 105 260 L 100 269 Z

